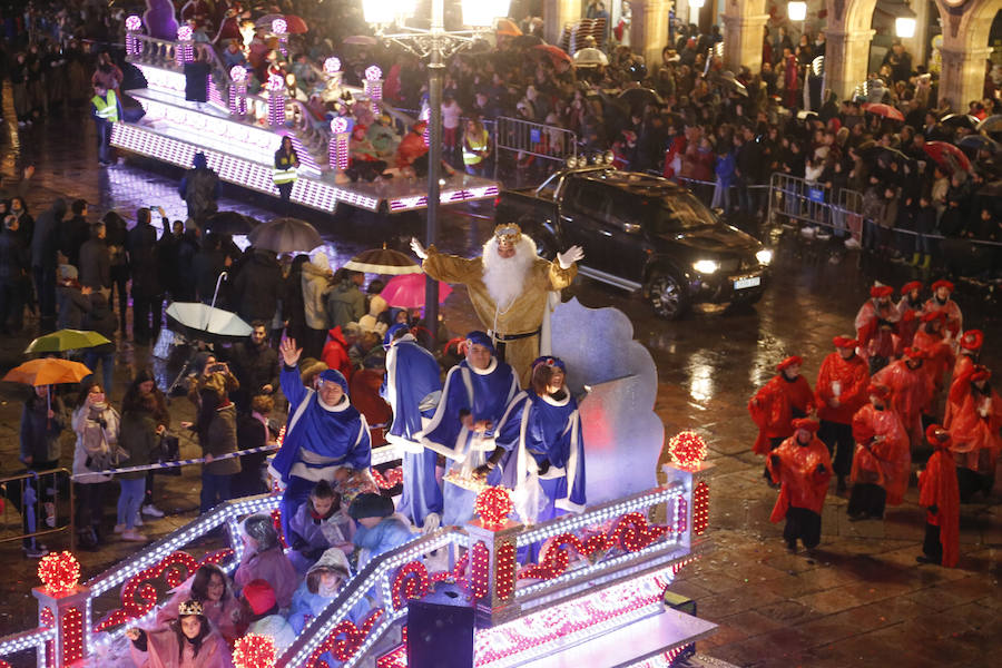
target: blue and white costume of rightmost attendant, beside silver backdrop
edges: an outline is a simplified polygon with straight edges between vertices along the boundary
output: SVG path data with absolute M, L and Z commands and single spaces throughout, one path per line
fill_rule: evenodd
M 554 360 L 563 369 L 563 363 Z M 495 433 L 501 484 L 524 522 L 546 522 L 564 512 L 584 510 L 584 442 L 578 402 L 566 389 L 561 399 L 520 392 Z M 546 464 L 549 468 L 546 468 Z M 546 471 L 540 472 L 543 465 Z

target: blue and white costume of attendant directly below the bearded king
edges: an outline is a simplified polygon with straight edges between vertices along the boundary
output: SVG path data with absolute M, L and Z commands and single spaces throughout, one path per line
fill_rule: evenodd
M 468 338 L 493 351 L 490 338 L 473 332 Z M 471 478 L 473 470 L 487 461 L 494 450 L 493 429 L 483 433 L 470 431 L 462 419 L 470 414 L 474 421 L 485 420 L 497 425 L 504 409 L 519 392 L 519 379 L 511 366 L 491 356 L 487 369 L 475 369 L 465 360 L 449 370 L 442 401 L 431 422 L 421 434 L 421 443 L 430 451 L 444 454 L 448 468 L 461 478 Z M 492 471 L 488 484 L 497 484 L 500 471 Z M 445 482 L 445 514 L 442 523 L 462 525 L 473 519 L 475 494 Z

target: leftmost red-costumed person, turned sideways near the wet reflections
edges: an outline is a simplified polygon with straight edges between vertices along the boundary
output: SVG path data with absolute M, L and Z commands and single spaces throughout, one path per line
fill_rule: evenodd
M 800 375 L 804 360 L 793 355 L 776 365 L 777 373 L 763 385 L 748 402 L 752 420 L 758 425 L 758 439 L 753 450 L 755 454 L 768 454 L 788 439 L 793 432 L 792 421 L 806 418 L 814 409 L 814 393 L 811 383 Z M 765 471 L 769 480 L 768 468 Z

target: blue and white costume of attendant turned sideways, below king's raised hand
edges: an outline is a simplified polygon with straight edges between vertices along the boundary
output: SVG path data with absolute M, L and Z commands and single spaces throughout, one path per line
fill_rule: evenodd
M 390 348 L 381 394 L 393 409 L 393 424 L 386 440 L 404 452 L 403 495 L 396 510 L 415 527 L 421 527 L 429 514 L 442 514 L 442 487 L 435 479 L 435 453 L 422 448 L 415 435 L 421 431 L 422 418 L 432 414 L 432 409 L 422 411 L 421 403 L 429 395 L 441 392 L 442 381 L 439 363 L 418 344 L 413 334 L 404 334 L 390 343 L 401 328 L 406 325 L 396 324 L 386 332 L 384 345 Z

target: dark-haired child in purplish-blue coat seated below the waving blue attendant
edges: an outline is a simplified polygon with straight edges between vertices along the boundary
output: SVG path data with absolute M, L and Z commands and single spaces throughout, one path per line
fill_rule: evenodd
M 306 574 L 327 548 L 348 547 L 354 527 L 341 505 L 341 494 L 331 483 L 321 480 L 313 488 L 306 503 L 289 521 L 286 542 L 292 550 L 288 559 L 301 577 Z

